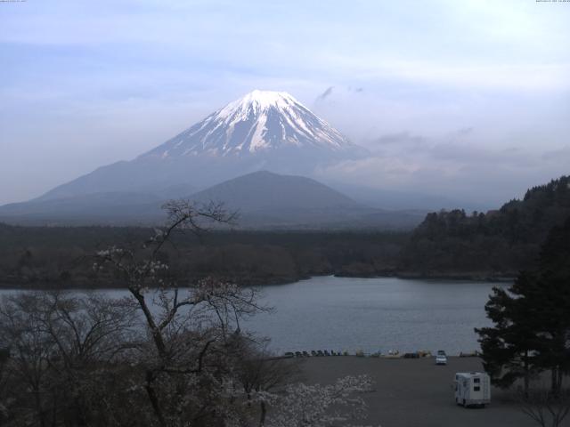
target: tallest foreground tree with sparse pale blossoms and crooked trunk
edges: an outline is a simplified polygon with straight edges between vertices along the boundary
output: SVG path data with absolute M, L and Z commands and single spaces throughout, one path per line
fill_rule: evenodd
M 232 222 L 234 215 L 222 205 L 196 207 L 183 200 L 164 207 L 167 226 L 156 229 L 145 242 L 143 255 L 114 246 L 97 254 L 94 269 L 110 267 L 142 311 L 150 340 L 139 359 L 156 422 L 166 427 L 239 417 L 229 387 L 233 337 L 241 333 L 241 318 L 265 308 L 257 304 L 255 289 L 213 278 L 190 284 L 161 258 L 162 248 L 177 230 L 200 235 L 208 223 Z

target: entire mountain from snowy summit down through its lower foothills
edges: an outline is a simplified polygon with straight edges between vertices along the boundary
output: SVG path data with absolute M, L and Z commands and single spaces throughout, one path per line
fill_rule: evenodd
M 0 206 L 0 221 L 157 223 L 164 220 L 160 205 L 183 197 L 226 202 L 244 214 L 244 227 L 253 228 L 419 223 L 423 213 L 410 211 L 422 208 L 415 195 L 390 205 L 394 195 L 339 183 L 335 190 L 311 179 L 319 167 L 368 154 L 289 93 L 253 91 L 133 160 Z

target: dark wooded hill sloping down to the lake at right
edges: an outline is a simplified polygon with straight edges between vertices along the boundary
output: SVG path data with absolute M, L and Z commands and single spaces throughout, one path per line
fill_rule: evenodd
M 536 262 L 549 231 L 568 217 L 569 176 L 533 187 L 522 200 L 486 214 L 428 214 L 403 251 L 401 267 L 422 275 L 470 271 L 514 276 Z

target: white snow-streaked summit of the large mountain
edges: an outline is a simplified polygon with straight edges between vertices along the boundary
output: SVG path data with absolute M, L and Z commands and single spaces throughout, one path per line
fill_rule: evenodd
M 273 149 L 344 152 L 355 146 L 289 93 L 255 90 L 146 156 L 250 156 Z

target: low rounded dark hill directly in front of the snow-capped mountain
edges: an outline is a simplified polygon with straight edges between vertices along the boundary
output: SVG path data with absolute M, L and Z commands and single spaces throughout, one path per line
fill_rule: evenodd
M 224 181 L 190 198 L 223 201 L 229 210 L 239 211 L 244 228 L 409 229 L 423 215 L 371 208 L 310 178 L 267 171 Z

